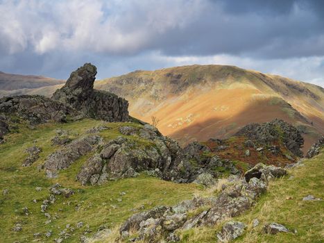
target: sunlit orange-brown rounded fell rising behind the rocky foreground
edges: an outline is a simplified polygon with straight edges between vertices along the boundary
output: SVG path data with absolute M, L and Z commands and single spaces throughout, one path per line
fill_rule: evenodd
M 289 78 L 223 65 L 137 71 L 97 81 L 182 144 L 228 137 L 252 122 L 284 119 L 305 131 L 305 149 L 324 130 L 324 89 Z

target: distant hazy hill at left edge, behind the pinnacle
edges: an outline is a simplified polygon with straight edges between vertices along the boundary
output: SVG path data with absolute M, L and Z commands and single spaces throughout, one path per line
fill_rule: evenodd
M 0 72 L 0 90 L 35 89 L 49 85 L 58 85 L 65 81 L 35 75 L 6 74 Z M 10 92 L 9 92 L 10 93 Z

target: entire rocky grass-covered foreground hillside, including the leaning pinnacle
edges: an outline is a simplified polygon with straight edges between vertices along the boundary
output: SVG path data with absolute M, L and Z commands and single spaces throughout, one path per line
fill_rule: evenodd
M 95 76 L 85 63 L 51 99 L 0 99 L 0 242 L 323 238 L 324 137 L 301 159 L 300 131 L 273 119 L 182 149 Z

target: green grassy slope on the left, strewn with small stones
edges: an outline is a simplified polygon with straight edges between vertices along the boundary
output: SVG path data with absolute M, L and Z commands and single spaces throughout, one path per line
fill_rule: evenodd
M 173 205 L 178 201 L 190 199 L 194 192 L 200 190 L 197 185 L 179 185 L 144 175 L 110 181 L 101 186 L 81 186 L 75 181 L 75 177 L 83 162 L 90 155 L 83 156 L 69 169 L 61 171 L 56 179 L 46 178 L 44 171 L 37 171 L 37 165 L 44 162 L 49 153 L 58 149 L 58 147 L 51 146 L 51 138 L 54 137 L 56 128 L 67 129 L 71 131 L 72 137 L 76 137 L 78 134 L 85 133 L 89 128 L 101 124 L 112 127 L 112 130 L 101 132 L 105 140 L 121 135 L 118 131 L 121 124 L 88 119 L 68 124 L 44 124 L 37 126 L 34 131 L 22 126 L 19 128 L 20 133 L 6 137 L 6 144 L 0 145 L 0 242 L 14 242 L 15 240 L 31 242 L 34 240 L 33 233 L 44 234 L 49 230 L 53 231 L 52 237 L 42 237 L 46 242 L 52 242 L 66 224 L 75 227 L 78 221 L 89 224 L 94 232 L 102 224 L 113 228 L 134 213 L 130 209 L 139 208 L 142 205 L 145 208 Z M 130 124 L 130 126 L 139 125 Z M 145 145 L 145 141 L 139 141 L 139 143 Z M 22 167 L 22 162 L 26 158 L 24 150 L 33 144 L 42 147 L 41 158 L 31 167 Z M 40 206 L 42 201 L 49 196 L 48 187 L 53 183 L 70 187 L 76 191 L 76 194 L 67 199 L 57 196 L 56 203 L 49 206 L 46 212 L 52 216 L 57 213 L 59 218 L 52 219 L 51 224 L 44 224 L 46 217 L 40 212 Z M 42 191 L 37 192 L 35 187 L 42 187 Z M 5 188 L 10 192 L 3 196 L 2 191 Z M 126 192 L 126 195 L 121 196 L 120 192 Z M 122 199 L 121 202 L 117 201 L 119 198 Z M 33 203 L 33 199 L 37 199 L 38 202 Z M 78 204 L 80 204 L 80 209 L 76 210 Z M 28 216 L 22 215 L 22 208 L 25 206 L 31 212 Z M 22 224 L 21 232 L 11 231 L 15 223 Z M 84 229 L 84 227 L 76 229 L 71 233 L 68 242 L 78 242 Z

